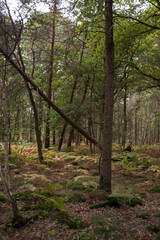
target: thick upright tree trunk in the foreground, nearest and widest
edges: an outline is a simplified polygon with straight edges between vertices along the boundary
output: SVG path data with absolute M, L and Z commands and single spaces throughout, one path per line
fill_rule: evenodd
M 112 155 L 112 118 L 114 105 L 114 44 L 112 0 L 105 0 L 105 71 L 106 92 L 104 108 L 102 159 L 100 165 L 100 188 L 110 193 L 111 155 Z

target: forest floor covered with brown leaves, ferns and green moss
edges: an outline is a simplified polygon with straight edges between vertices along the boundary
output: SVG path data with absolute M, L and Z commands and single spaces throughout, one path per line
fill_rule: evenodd
M 120 152 L 115 144 L 110 197 L 118 204 L 98 208 L 95 204 L 108 198 L 98 189 L 99 153 L 91 154 L 84 145 L 43 153 L 45 164 L 39 164 L 35 145 L 12 146 L 12 191 L 28 220 L 13 228 L 0 181 L 0 240 L 160 239 L 160 146 Z

